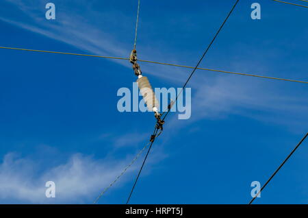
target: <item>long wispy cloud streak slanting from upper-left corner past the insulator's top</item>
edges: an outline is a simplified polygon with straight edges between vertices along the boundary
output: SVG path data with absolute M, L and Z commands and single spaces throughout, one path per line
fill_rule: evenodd
M 128 57 L 131 51 L 131 40 L 122 41 L 122 38 L 118 38 L 118 31 L 116 33 L 110 31 L 110 26 L 116 26 L 117 29 L 123 29 L 123 32 L 127 34 L 129 32 L 127 22 L 131 19 L 120 11 L 113 10 L 112 12 L 101 12 L 97 14 L 97 11 L 92 8 L 89 1 L 79 1 L 78 7 L 86 8 L 82 15 L 80 15 L 73 5 L 71 8 L 66 8 L 65 5 L 61 5 L 61 10 L 57 10 L 57 14 L 60 14 L 60 18 L 55 21 L 47 21 L 44 19 L 44 1 L 19 1 L 19 0 L 6 0 L 12 5 L 15 5 L 18 10 L 23 12 L 27 17 L 27 20 L 18 18 L 16 16 L 0 16 L 0 20 L 12 25 L 16 25 L 23 29 L 27 29 L 31 32 L 47 36 L 53 40 L 71 45 L 81 51 L 88 53 L 101 55 L 101 56 L 116 56 L 116 57 Z M 60 4 L 60 3 L 59 3 Z M 58 5 L 58 4 L 56 4 Z M 97 18 L 103 22 L 90 23 L 85 19 L 86 17 Z M 118 22 L 120 21 L 120 22 Z M 114 27 L 113 27 L 114 28 Z M 130 28 L 131 30 L 131 28 Z M 42 47 L 38 49 L 44 49 Z M 169 61 L 177 63 L 177 58 L 174 57 L 170 60 L 168 54 L 163 53 L 161 49 L 153 47 L 146 47 L 145 52 L 139 58 L 144 60 L 153 60 L 153 57 L 159 57 L 161 59 L 167 59 Z M 111 60 L 117 62 L 123 66 L 131 69 L 129 62 L 123 62 L 122 60 Z M 147 74 L 155 75 L 157 77 L 170 80 L 172 82 L 181 83 L 187 72 L 183 69 L 172 69 L 168 66 L 157 66 L 154 64 L 144 64 L 142 70 Z M 175 75 L 177 75 L 175 77 Z

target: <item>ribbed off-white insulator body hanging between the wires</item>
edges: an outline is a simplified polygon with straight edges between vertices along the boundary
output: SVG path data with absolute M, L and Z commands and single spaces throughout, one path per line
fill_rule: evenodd
M 153 88 L 148 80 L 147 77 L 140 77 L 137 80 L 138 87 L 140 89 L 140 93 L 144 99 L 146 106 L 148 107 L 149 111 L 153 111 L 153 108 L 157 110 L 159 108 L 159 102 L 155 96 Z

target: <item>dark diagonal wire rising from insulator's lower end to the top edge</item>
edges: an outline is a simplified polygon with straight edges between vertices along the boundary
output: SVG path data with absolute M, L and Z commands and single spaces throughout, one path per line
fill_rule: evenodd
M 236 5 L 238 5 L 238 2 L 240 0 L 235 1 L 233 7 L 231 8 L 229 14 L 227 15 L 226 19 L 224 19 L 224 22 L 222 23 L 222 25 L 220 25 L 218 31 L 216 32 L 214 38 L 211 40 L 211 43 L 209 43 L 209 45 L 207 46 L 207 49 L 205 49 L 205 52 L 203 53 L 203 56 L 201 56 L 200 60 L 198 61 L 198 64 L 196 64 L 196 66 L 194 67 L 194 70 L 192 71 L 192 73 L 190 73 L 190 76 L 188 77 L 188 79 L 186 80 L 185 84 L 183 85 L 183 87 L 181 88 L 181 91 L 179 92 L 179 94 L 177 95 L 175 102 L 177 102 L 177 99 L 179 98 L 179 95 L 181 95 L 181 93 L 183 93 L 184 88 L 186 87 L 186 85 L 188 84 L 188 82 L 190 81 L 192 75 L 194 75 L 194 72 L 196 71 L 196 69 L 198 68 L 199 64 L 202 62 L 203 58 L 205 57 L 205 55 L 207 54 L 207 51 L 209 51 L 209 49 L 211 48 L 211 45 L 213 45 L 214 41 L 216 40 L 218 34 L 220 33 L 222 27 L 224 27 L 224 24 L 227 23 L 229 17 L 231 16 L 233 10 L 235 9 Z M 166 112 L 166 114 L 164 115 L 164 118 L 162 119 L 163 121 L 166 119 L 166 117 L 168 116 L 170 112 L 170 107 L 168 109 L 168 111 Z

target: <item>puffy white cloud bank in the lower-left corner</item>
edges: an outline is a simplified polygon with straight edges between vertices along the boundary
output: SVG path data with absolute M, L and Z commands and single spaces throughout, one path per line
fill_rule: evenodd
M 62 165 L 45 167 L 41 171 L 41 162 L 18 158 L 16 154 L 10 153 L 5 155 L 0 165 L 0 199 L 3 202 L 5 199 L 18 199 L 22 203 L 31 204 L 91 204 L 120 174 L 131 158 L 129 156 L 125 160 L 94 160 L 90 156 L 74 154 Z M 128 173 L 135 167 L 136 165 L 133 165 Z M 47 181 L 55 182 L 54 199 L 45 197 Z M 123 181 L 125 176 L 118 183 Z

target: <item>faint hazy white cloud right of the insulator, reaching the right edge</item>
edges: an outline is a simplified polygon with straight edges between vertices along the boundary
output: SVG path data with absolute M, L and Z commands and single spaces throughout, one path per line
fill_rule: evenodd
M 270 82 L 249 77 L 225 75 L 209 79 L 200 74 L 196 77 L 198 80 L 192 86 L 197 88 L 192 96 L 191 119 L 183 123 L 175 116 L 168 121 L 169 125 L 172 123 L 175 128 L 183 128 L 188 123 L 203 119 L 240 115 L 267 124 L 282 125 L 291 132 L 307 131 L 307 98 L 303 94 L 298 95 L 299 90 L 284 90 L 283 83 L 272 86 Z

